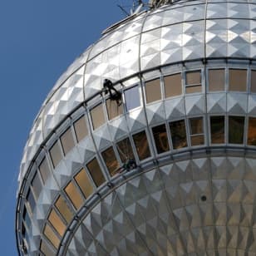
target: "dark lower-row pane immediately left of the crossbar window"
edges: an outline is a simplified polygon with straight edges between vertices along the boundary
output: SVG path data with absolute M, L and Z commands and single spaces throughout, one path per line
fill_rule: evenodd
M 175 150 L 188 146 L 184 120 L 171 122 L 170 134 L 172 145 Z

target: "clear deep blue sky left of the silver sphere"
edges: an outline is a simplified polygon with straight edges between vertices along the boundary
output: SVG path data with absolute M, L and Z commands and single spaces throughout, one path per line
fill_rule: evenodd
M 15 206 L 22 150 L 42 101 L 132 0 L 0 1 L 0 249 L 17 255 Z

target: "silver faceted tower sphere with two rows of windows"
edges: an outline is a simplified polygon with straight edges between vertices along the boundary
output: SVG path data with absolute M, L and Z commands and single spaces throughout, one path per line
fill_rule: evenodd
M 256 2 L 150 1 L 44 101 L 21 255 L 256 255 Z

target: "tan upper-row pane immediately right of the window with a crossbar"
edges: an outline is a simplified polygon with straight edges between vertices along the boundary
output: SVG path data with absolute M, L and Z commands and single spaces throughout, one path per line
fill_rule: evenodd
M 208 71 L 209 91 L 224 91 L 225 70 L 210 69 Z

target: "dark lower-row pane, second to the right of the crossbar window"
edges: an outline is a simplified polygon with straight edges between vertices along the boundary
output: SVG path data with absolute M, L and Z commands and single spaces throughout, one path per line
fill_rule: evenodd
M 243 144 L 244 116 L 229 116 L 229 143 Z

